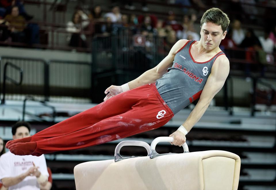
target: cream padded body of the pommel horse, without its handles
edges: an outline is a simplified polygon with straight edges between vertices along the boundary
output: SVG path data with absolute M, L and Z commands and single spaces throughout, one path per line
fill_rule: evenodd
M 81 163 L 77 190 L 237 190 L 241 160 L 221 150 Z

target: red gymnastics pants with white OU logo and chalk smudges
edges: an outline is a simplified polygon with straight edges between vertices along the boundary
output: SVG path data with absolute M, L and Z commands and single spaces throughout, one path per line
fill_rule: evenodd
M 94 146 L 165 125 L 173 112 L 155 84 L 120 93 L 32 136 L 34 154 Z

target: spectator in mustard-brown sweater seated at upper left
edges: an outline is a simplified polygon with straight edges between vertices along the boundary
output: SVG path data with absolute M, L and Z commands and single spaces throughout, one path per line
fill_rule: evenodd
M 13 42 L 25 42 L 26 34 L 24 30 L 26 29 L 27 23 L 23 16 L 19 15 L 19 9 L 17 6 L 12 7 L 11 14 L 5 16 L 5 21 L 7 22 L 9 36 Z

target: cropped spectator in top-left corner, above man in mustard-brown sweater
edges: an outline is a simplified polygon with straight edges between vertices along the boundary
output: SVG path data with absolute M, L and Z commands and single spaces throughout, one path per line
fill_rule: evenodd
M 18 7 L 19 15 L 22 15 L 26 20 L 33 18 L 33 16 L 26 13 L 24 5 L 20 0 L 0 0 L 0 16 L 4 18 L 7 14 L 11 13 L 13 6 Z

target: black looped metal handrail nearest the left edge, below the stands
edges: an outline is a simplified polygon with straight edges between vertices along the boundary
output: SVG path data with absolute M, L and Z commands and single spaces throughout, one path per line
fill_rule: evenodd
M 17 82 L 16 80 L 10 78 L 7 76 L 7 67 L 13 67 L 14 69 L 18 70 L 20 73 L 20 81 Z M 16 84 L 16 85 L 20 85 L 22 83 L 23 80 L 23 69 L 21 69 L 20 67 L 10 63 L 10 62 L 6 62 L 4 65 L 4 75 L 3 75 L 3 98 L 1 100 L 1 104 L 5 104 L 5 94 L 6 94 L 6 80 L 11 81 L 12 83 Z

